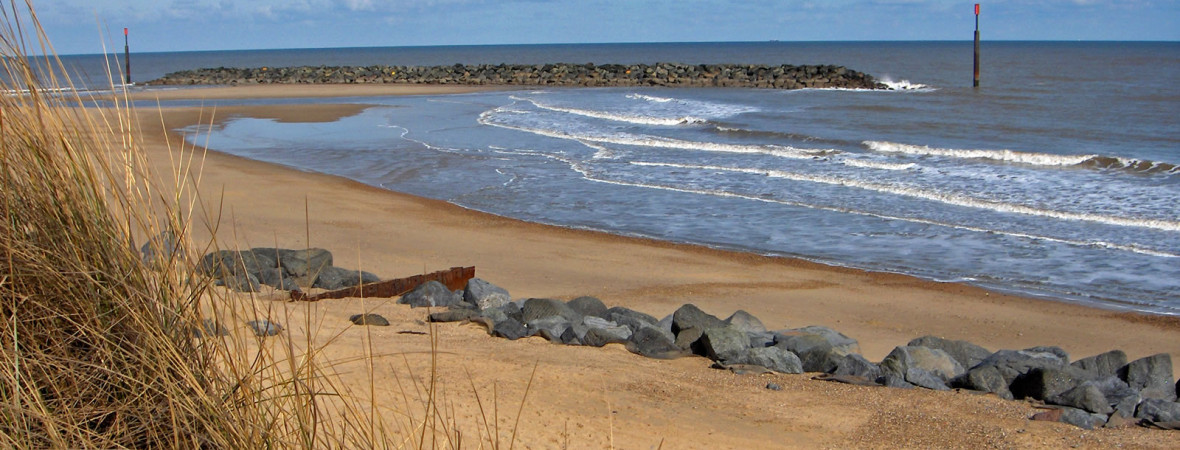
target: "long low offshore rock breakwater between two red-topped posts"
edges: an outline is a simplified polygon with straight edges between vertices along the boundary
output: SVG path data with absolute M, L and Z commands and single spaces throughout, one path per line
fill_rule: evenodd
M 864 72 L 832 65 L 538 64 L 452 66 L 301 66 L 199 69 L 173 72 L 148 85 L 243 84 L 451 84 L 530 86 L 683 86 L 886 90 Z

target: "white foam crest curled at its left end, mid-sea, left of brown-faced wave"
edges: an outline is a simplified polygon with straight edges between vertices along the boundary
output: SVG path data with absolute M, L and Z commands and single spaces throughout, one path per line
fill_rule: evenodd
M 479 115 L 478 123 L 481 125 L 504 128 L 539 136 L 546 136 L 558 139 L 577 141 L 577 142 L 649 146 L 660 149 L 699 150 L 699 151 L 713 151 L 723 154 L 768 155 L 768 156 L 792 158 L 792 159 L 813 159 L 835 151 L 835 150 L 805 150 L 805 149 L 796 149 L 793 146 L 769 145 L 769 144 L 767 145 L 723 144 L 716 142 L 683 141 L 683 139 L 674 139 L 661 136 L 631 135 L 631 133 L 590 135 L 590 133 L 575 133 L 575 132 L 557 131 L 557 130 L 544 130 L 531 126 L 511 125 L 493 120 L 492 116 L 497 112 L 505 112 L 502 111 L 502 109 L 504 107 L 506 106 L 484 111 L 483 113 Z

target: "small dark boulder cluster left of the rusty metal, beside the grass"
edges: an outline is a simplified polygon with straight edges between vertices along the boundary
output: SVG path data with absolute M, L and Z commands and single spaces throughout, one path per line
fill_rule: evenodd
M 368 272 L 333 266 L 332 252 L 322 248 L 218 250 L 202 257 L 199 268 L 218 286 L 240 292 L 258 292 L 262 285 L 282 291 L 332 291 L 381 281 Z

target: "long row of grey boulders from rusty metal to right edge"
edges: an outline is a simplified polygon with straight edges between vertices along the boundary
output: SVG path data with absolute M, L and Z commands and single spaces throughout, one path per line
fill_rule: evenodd
M 478 322 L 492 335 L 538 335 L 556 344 L 601 347 L 624 345 L 649 358 L 700 356 L 716 367 L 739 373 L 820 372 L 822 379 L 861 385 L 965 389 L 1007 399 L 1034 399 L 1057 411 L 1037 419 L 1084 429 L 1128 423 L 1180 425 L 1180 381 L 1166 353 L 1127 361 L 1114 350 L 1070 361 L 1060 347 L 989 351 L 978 345 L 920 337 L 894 348 L 880 363 L 859 354 L 859 344 L 822 327 L 768 331 L 754 315 L 738 311 L 726 319 L 683 305 L 656 319 L 625 307 L 607 307 L 582 296 L 510 301 L 507 292 L 473 279 L 465 291 L 450 292 L 427 282 L 399 299 L 414 307 L 445 307 L 430 314 L 435 322 Z

